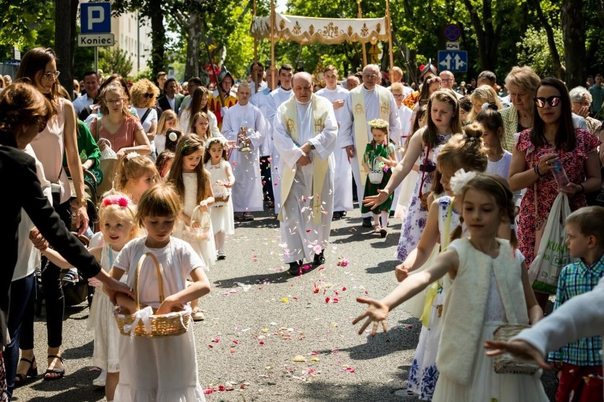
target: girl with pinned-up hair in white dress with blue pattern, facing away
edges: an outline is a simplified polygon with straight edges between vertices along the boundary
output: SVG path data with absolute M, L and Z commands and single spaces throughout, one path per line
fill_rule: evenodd
M 486 168 L 486 148 L 480 137 L 482 132 L 467 130 L 464 134 L 456 134 L 442 147 L 437 158 L 437 169 L 440 172 L 440 183 L 444 189 L 443 197 L 432 202 L 425 230 L 415 250 L 401 265 L 396 267 L 396 279 L 402 282 L 409 272 L 420 267 L 427 267 L 430 256 L 437 243 L 440 251 L 445 251 L 449 244 L 449 235 L 459 226 L 462 205 L 453 198 L 449 180 L 459 169 L 465 171 L 483 172 Z M 508 226 L 509 227 L 509 226 Z M 436 381 L 438 369 L 436 355 L 441 331 L 441 314 L 444 298 L 449 281 L 437 280 L 425 294 L 418 294 L 406 303 L 421 305 L 422 315 L 418 316 L 423 323 L 420 341 L 415 349 L 413 363 L 409 370 L 408 391 L 418 394 L 424 401 L 430 401 Z M 417 300 L 414 300 L 417 299 Z M 405 309 L 405 306 L 403 306 Z

